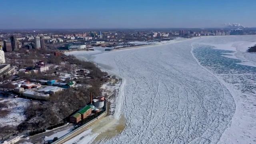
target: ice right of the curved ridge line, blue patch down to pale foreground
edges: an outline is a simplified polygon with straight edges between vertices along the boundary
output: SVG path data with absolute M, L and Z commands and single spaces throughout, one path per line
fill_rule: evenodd
M 256 142 L 256 67 L 248 66 L 238 58 L 227 56 L 234 51 L 214 49 L 200 44 L 194 47 L 192 52 L 198 62 L 220 78 L 236 99 L 236 115 L 232 120 L 232 126 L 223 134 L 223 141 Z

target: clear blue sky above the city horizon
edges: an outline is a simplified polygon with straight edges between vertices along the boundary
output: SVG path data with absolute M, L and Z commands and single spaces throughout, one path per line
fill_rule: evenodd
M 0 0 L 6 28 L 256 27 L 256 0 Z

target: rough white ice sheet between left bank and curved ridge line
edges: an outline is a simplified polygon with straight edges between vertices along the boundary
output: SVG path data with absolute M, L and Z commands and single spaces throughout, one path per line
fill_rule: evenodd
M 126 129 L 106 143 L 217 143 L 234 100 L 190 53 L 190 42 L 96 55 L 126 80 Z

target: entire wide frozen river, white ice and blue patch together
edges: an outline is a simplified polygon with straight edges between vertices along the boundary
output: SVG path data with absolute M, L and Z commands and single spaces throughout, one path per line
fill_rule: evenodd
M 100 143 L 255 142 L 256 55 L 242 47 L 255 41 L 202 37 L 91 56 L 123 79 L 115 116 L 124 114 L 126 128 Z

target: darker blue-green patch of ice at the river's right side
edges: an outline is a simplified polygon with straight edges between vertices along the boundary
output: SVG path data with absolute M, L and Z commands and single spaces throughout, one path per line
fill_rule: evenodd
M 200 64 L 233 84 L 243 93 L 256 94 L 256 67 L 246 66 L 241 60 L 227 58 L 229 50 L 218 50 L 199 45 L 193 50 Z

